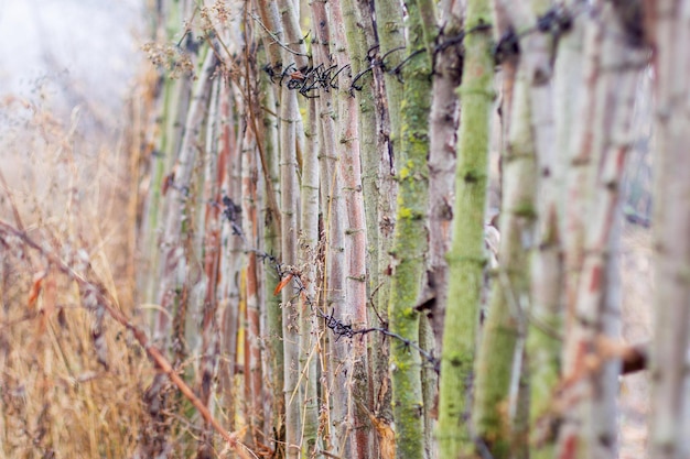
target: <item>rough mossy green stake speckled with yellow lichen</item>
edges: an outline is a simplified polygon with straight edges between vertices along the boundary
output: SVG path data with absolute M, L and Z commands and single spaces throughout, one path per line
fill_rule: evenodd
M 431 2 L 407 4 L 409 12 L 408 55 L 427 50 L 420 11 L 432 9 Z M 398 206 L 393 233 L 393 274 L 388 314 L 390 330 L 409 339 L 419 339 L 419 313 L 416 305 L 421 293 L 425 267 L 427 201 L 429 168 L 429 110 L 431 102 L 431 56 L 412 56 L 402 69 L 405 98 L 402 101 L 398 167 Z M 423 457 L 423 400 L 421 393 L 421 357 L 405 347 L 390 350 L 393 417 L 398 458 Z

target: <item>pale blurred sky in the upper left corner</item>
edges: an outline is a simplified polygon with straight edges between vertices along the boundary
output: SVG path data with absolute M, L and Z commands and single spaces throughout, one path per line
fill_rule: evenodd
M 0 90 L 114 128 L 144 33 L 141 0 L 0 0 Z

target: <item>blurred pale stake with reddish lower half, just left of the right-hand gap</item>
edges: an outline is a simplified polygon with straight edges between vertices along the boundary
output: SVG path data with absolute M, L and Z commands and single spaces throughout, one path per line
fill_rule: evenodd
M 614 314 L 619 308 L 611 309 L 606 299 L 608 245 L 628 150 L 628 142 L 621 140 L 628 135 L 637 80 L 634 69 L 644 63 L 644 55 L 623 47 L 623 42 L 614 39 L 612 31 L 622 33 L 622 29 L 610 6 L 603 6 L 602 15 L 607 18 L 606 25 L 595 25 L 601 28 L 595 33 L 602 40 L 589 42 L 595 46 L 591 51 L 599 61 L 596 77 L 591 80 L 595 85 L 591 90 L 595 103 L 592 122 L 596 128 L 586 151 L 590 171 L 584 171 L 585 181 L 580 183 L 579 197 L 590 218 L 582 229 L 579 286 L 570 298 L 574 310 L 565 337 L 568 409 L 560 448 L 574 448 L 593 458 L 612 458 L 617 455 L 615 395 L 619 359 L 601 361 L 593 368 L 590 363 L 592 359 L 604 359 L 601 342 L 615 339 L 607 334 L 619 328 L 619 316 Z

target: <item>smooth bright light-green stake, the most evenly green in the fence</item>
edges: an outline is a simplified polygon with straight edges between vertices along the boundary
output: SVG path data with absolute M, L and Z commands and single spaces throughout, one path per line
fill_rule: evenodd
M 465 30 L 490 24 L 492 10 L 484 0 L 467 2 Z M 465 36 L 462 103 L 453 242 L 448 254 L 450 278 L 449 303 L 443 330 L 441 381 L 439 393 L 438 439 L 440 456 L 472 456 L 473 437 L 468 427 L 473 362 L 479 320 L 479 293 L 484 253 L 484 208 L 487 185 L 493 56 L 490 30 L 481 29 Z M 461 217 L 462 216 L 462 217 Z

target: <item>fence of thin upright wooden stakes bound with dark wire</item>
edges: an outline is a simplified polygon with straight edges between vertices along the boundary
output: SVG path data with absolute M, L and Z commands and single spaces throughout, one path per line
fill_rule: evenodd
M 651 445 L 655 457 L 688 451 L 673 368 L 688 345 L 686 250 L 666 244 L 686 230 L 673 165 L 687 59 L 671 39 L 687 34 L 677 17 L 689 7 L 554 3 L 184 10 L 202 21 L 187 47 L 203 43 L 194 76 L 161 92 L 165 157 L 143 226 L 160 253 L 143 248 L 141 297 L 158 302 L 154 342 L 255 452 L 615 457 L 619 189 L 650 56 L 635 35 L 643 11 L 665 199 Z M 171 455 L 158 404 L 185 407 L 166 400 L 166 378 L 147 392 L 158 424 L 145 451 Z M 197 457 L 213 457 L 211 423 L 194 423 Z

